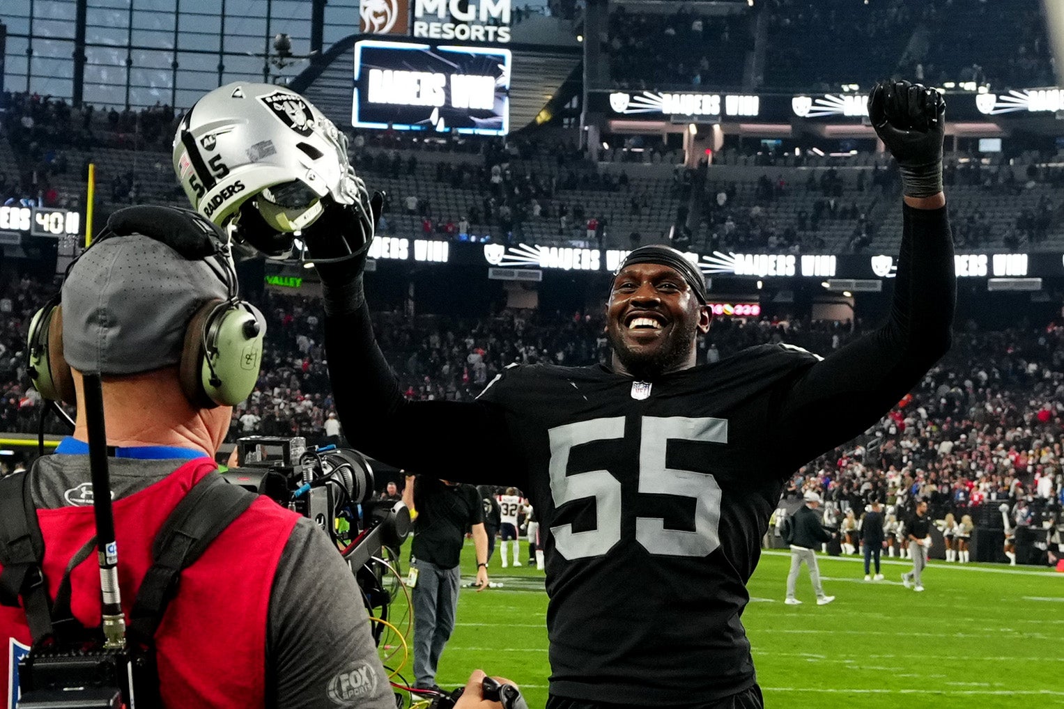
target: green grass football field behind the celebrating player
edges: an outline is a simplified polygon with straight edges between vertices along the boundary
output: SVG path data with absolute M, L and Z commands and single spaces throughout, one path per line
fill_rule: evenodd
M 827 606 L 815 604 L 804 568 L 804 603 L 783 604 L 785 552 L 765 552 L 750 579 L 743 621 L 767 707 L 1064 707 L 1064 574 L 932 561 L 927 590 L 916 593 L 901 585 L 910 564 L 897 559 L 883 560 L 886 578 L 875 583 L 863 580 L 857 557 L 819 561 L 825 590 L 836 596 Z M 467 542 L 463 569 L 472 568 Z M 437 681 L 456 687 L 482 668 L 516 681 L 529 707 L 542 709 L 550 674 L 543 572 L 502 570 L 498 551 L 489 571 L 503 586 L 462 589 Z M 402 606 L 393 613 L 404 623 Z

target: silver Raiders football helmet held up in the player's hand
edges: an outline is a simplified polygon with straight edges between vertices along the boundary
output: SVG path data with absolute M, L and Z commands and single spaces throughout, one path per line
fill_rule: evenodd
M 222 227 L 249 200 L 280 235 L 314 223 L 322 200 L 368 204 L 347 137 L 310 101 L 272 84 L 227 84 L 197 101 L 178 126 L 173 170 L 196 210 Z

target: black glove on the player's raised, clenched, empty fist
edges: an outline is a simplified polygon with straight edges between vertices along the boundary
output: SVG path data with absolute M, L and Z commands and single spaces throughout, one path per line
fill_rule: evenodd
M 898 161 L 905 197 L 932 197 L 942 191 L 945 116 L 942 94 L 922 84 L 880 82 L 868 95 L 868 118 Z

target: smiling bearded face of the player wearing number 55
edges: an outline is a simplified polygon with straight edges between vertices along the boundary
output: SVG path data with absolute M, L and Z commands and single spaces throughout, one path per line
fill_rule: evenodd
M 649 379 L 695 366 L 695 338 L 710 330 L 710 313 L 676 269 L 633 264 L 613 281 L 606 337 L 613 368 Z

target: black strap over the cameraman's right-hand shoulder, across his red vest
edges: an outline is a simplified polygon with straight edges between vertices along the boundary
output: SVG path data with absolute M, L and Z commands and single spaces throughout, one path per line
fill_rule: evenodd
M 177 593 L 181 571 L 192 565 L 256 496 L 213 472 L 178 503 L 155 537 L 153 563 L 133 604 L 129 631 L 134 641 L 152 643 L 166 607 Z

